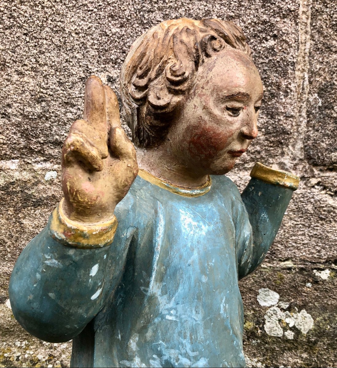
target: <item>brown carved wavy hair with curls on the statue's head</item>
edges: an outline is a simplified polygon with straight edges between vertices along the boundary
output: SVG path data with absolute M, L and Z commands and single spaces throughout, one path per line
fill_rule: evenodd
M 133 43 L 122 66 L 121 96 L 136 146 L 163 140 L 198 68 L 226 47 L 251 55 L 242 29 L 218 19 L 165 21 Z

